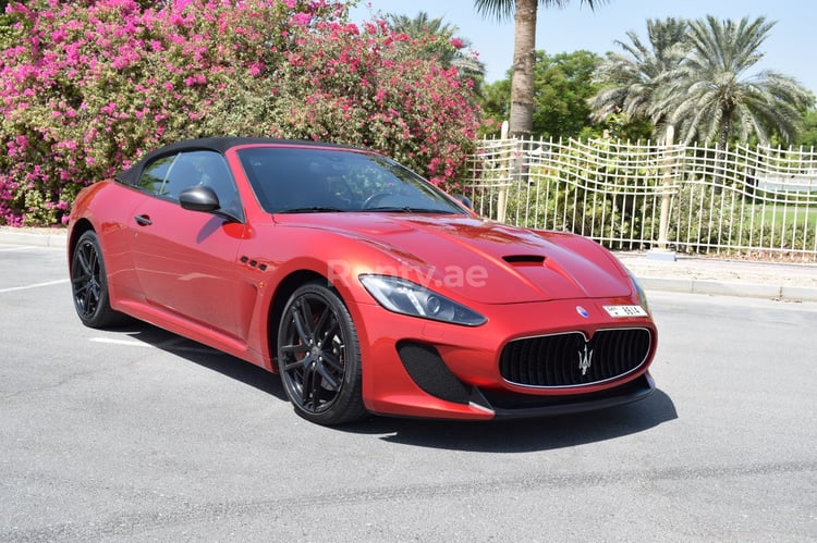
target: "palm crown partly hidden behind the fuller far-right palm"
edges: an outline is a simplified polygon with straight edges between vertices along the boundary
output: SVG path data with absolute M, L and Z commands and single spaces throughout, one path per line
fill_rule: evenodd
M 592 119 L 605 122 L 610 115 L 621 113 L 625 122 L 644 118 L 659 129 L 664 119 L 651 115 L 651 106 L 661 82 L 679 66 L 688 49 L 687 28 L 685 20 L 647 20 L 648 45 L 633 30 L 626 33 L 629 44 L 617 40 L 624 53 L 609 53 L 594 74 L 594 79 L 606 86 L 589 100 Z

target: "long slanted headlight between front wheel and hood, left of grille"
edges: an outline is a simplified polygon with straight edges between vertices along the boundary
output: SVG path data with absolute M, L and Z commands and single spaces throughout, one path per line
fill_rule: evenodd
M 381 306 L 395 313 L 466 326 L 478 326 L 487 320 L 476 311 L 404 279 L 390 275 L 361 275 L 358 279 Z

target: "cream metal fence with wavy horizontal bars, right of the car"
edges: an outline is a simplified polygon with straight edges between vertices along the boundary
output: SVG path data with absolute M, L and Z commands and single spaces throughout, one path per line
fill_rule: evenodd
M 470 172 L 476 211 L 500 222 L 619 250 L 817 261 L 814 149 L 486 139 Z

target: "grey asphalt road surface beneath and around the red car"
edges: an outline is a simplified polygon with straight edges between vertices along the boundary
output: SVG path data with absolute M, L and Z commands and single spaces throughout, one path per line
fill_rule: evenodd
M 247 363 L 82 326 L 63 251 L 0 245 L 0 541 L 817 541 L 817 304 L 651 303 L 638 404 L 327 429 Z

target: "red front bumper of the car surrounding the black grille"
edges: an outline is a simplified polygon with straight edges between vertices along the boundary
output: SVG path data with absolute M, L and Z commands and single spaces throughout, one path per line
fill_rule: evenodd
M 655 356 L 656 330 L 649 318 L 611 319 L 605 305 L 632 304 L 630 298 L 558 300 L 474 307 L 488 317 L 468 328 L 392 313 L 359 304 L 363 396 L 376 414 L 446 418 L 510 419 L 602 409 L 648 396 L 655 390 L 648 367 Z M 587 316 L 576 310 L 581 305 Z M 499 357 L 511 341 L 578 331 L 643 328 L 651 345 L 636 370 L 603 383 L 537 387 L 507 381 Z

